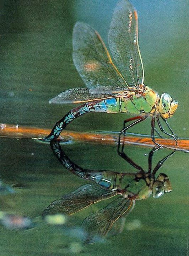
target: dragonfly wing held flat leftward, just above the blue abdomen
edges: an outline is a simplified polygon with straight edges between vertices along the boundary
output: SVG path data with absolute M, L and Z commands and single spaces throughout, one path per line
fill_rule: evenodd
M 74 88 L 61 92 L 58 96 L 52 98 L 49 103 L 79 103 L 87 101 L 101 100 L 104 98 L 113 98 L 126 96 L 131 90 L 112 86 L 99 86 L 95 89 Z

